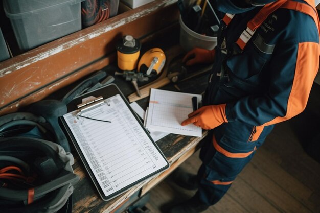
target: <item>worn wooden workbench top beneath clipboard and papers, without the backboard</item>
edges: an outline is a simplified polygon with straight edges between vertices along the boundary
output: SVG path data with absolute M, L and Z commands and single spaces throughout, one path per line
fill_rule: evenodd
M 114 65 L 109 65 L 105 67 L 105 70 L 108 74 L 112 75 L 112 73 L 117 70 L 117 67 Z M 118 85 L 126 97 L 134 92 L 133 86 L 130 82 L 124 81 L 122 77 L 115 76 L 115 78 L 116 80 L 114 83 Z M 204 74 L 196 79 L 180 82 L 177 84 L 177 86 L 181 91 L 200 94 L 205 89 L 207 78 L 208 75 Z M 176 87 L 172 83 L 161 89 L 177 91 Z M 139 100 L 137 103 L 145 109 L 148 105 L 148 101 L 149 97 Z M 77 152 L 72 151 L 72 153 L 75 155 L 76 161 L 73 168 L 75 173 L 80 176 L 80 181 L 75 185 L 73 212 L 119 212 L 118 209 L 124 204 L 128 206 L 132 202 L 136 201 L 136 199 L 130 200 L 131 196 L 134 195 L 136 197 L 136 195 L 138 195 L 138 197 L 142 197 L 149 190 L 151 190 L 153 186 L 167 177 L 174 169 L 178 167 L 178 165 L 188 159 L 199 148 L 200 141 L 205 135 L 207 135 L 207 131 L 203 131 L 202 137 L 169 134 L 166 137 L 158 140 L 156 144 L 169 161 L 170 168 L 158 176 L 136 185 L 135 187 L 131 188 L 131 190 L 119 195 L 116 198 L 113 198 L 110 201 L 103 201 L 100 198 L 96 187 L 85 171 Z

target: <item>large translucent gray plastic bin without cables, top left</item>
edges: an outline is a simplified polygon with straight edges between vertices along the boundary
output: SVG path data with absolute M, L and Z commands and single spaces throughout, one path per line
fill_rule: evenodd
M 83 0 L 4 0 L 19 48 L 27 51 L 81 30 Z

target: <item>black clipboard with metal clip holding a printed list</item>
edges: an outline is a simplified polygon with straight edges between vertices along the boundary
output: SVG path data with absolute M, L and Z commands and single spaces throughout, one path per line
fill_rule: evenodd
M 77 97 L 67 111 L 63 128 L 103 200 L 169 168 L 116 84 Z

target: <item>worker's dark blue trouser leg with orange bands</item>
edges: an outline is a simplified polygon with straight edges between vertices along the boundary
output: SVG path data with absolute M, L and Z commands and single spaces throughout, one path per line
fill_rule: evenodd
M 262 141 L 259 140 L 259 146 Z M 200 186 L 197 196 L 207 205 L 217 203 L 230 188 L 236 176 L 252 159 L 256 142 L 232 141 L 222 138 L 219 142 L 210 134 L 200 151 L 202 165 L 198 170 Z

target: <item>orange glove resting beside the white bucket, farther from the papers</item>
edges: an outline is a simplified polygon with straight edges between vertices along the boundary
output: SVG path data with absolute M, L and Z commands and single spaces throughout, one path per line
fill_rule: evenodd
M 182 59 L 182 62 L 186 62 L 188 66 L 199 63 L 212 63 L 214 56 L 215 49 L 205 50 L 202 48 L 194 48 L 185 55 L 185 57 Z

